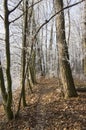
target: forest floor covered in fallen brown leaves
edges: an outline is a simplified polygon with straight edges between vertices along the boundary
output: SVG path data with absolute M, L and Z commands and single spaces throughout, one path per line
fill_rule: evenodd
M 86 87 L 86 81 L 75 81 Z M 20 90 L 14 93 L 14 112 Z M 18 119 L 7 121 L 0 105 L 0 130 L 86 130 L 86 91 L 78 97 L 63 99 L 61 84 L 56 78 L 39 79 L 33 93 L 27 89 L 27 107 L 21 108 Z

